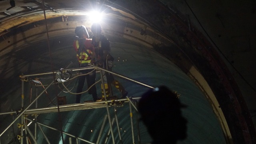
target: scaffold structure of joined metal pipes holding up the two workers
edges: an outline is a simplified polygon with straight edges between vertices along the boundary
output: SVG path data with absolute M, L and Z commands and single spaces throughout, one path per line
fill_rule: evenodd
M 107 98 L 106 96 L 106 89 L 105 89 L 105 85 L 104 85 L 104 79 L 103 79 L 103 73 L 104 72 L 108 72 L 108 73 L 111 73 L 111 74 L 114 74 L 115 76 L 118 76 L 120 78 L 123 78 L 124 80 L 128 80 L 130 82 L 134 82 L 136 84 L 139 84 L 141 86 L 145 86 L 147 88 L 154 88 L 152 86 L 149 86 L 147 84 L 144 84 L 142 82 L 138 82 L 136 80 L 132 80 L 131 78 L 128 78 L 126 76 L 122 76 L 121 74 L 117 74 L 115 72 L 112 72 L 112 71 L 109 71 L 109 70 L 106 70 L 104 68 L 100 68 L 100 67 L 97 67 L 93 64 L 89 64 L 90 67 L 84 67 L 84 68 L 75 68 L 75 69 L 65 69 L 66 71 L 79 71 L 79 70 L 88 70 L 88 69 L 98 69 L 99 72 L 100 72 L 100 76 L 101 76 L 101 82 L 102 82 L 102 87 L 103 87 L 103 92 L 104 92 L 104 96 L 105 98 Z M 28 80 L 28 76 L 40 76 L 40 75 L 45 75 L 45 74 L 56 74 L 57 72 L 60 72 L 60 71 L 55 71 L 55 72 L 46 72 L 46 73 L 41 73 L 41 74 L 30 74 L 30 75 L 22 75 L 20 76 L 22 78 L 22 94 L 21 94 L 21 98 L 22 98 L 22 102 L 21 102 L 21 106 L 22 106 L 22 109 L 20 111 L 16 111 L 16 112 L 5 112 L 5 113 L 0 113 L 0 115 L 2 114 L 13 114 L 13 113 L 17 113 L 20 114 L 18 115 L 18 117 L 13 120 L 13 122 L 4 130 L 4 132 L 6 132 L 6 130 L 8 130 L 8 128 L 10 128 L 10 126 L 12 126 L 14 124 L 14 122 L 16 122 L 16 120 L 18 120 L 18 118 L 21 119 L 21 136 L 20 136 L 20 139 L 21 139 L 21 144 L 23 144 L 23 138 L 24 138 L 24 134 L 23 134 L 23 131 L 24 131 L 24 126 L 25 126 L 25 132 L 26 132 L 26 136 L 27 136 L 27 132 L 30 134 L 30 130 L 28 129 L 28 126 L 26 125 L 26 123 L 24 122 L 24 118 L 23 116 L 25 114 L 35 114 L 34 115 L 34 120 L 36 120 L 37 118 L 37 114 L 40 114 L 40 113 L 48 113 L 48 112 L 63 112 L 63 111 L 71 111 L 71 110 L 84 110 L 84 109 L 92 109 L 92 108 L 103 108 L 103 107 L 106 107 L 106 110 L 107 110 L 107 115 L 106 115 L 106 118 L 108 118 L 108 121 L 110 123 L 110 129 L 109 129 L 109 133 L 111 132 L 111 135 L 112 135 L 112 143 L 115 144 L 115 140 L 114 140 L 114 133 L 113 133 L 113 128 L 112 128 L 112 124 L 114 121 L 111 122 L 111 119 L 110 119 L 110 112 L 109 112 L 109 106 L 115 106 L 114 104 L 116 104 L 115 102 L 129 102 L 129 106 L 130 106 L 130 116 L 131 116 L 131 125 L 132 125 L 132 140 L 133 140 L 133 143 L 135 142 L 134 141 L 134 128 L 133 128 L 133 122 L 132 122 L 132 107 L 134 107 L 134 109 L 138 112 L 136 106 L 134 105 L 134 103 L 132 102 L 133 100 L 139 100 L 140 97 L 128 97 L 126 96 L 126 98 L 122 98 L 122 99 L 116 99 L 116 100 L 107 100 L 105 99 L 105 101 L 100 101 L 100 102 L 86 102 L 86 103 L 81 103 L 81 104 L 69 104 L 69 105 L 62 105 L 62 106 L 52 106 L 52 107 L 47 107 L 47 108 L 37 108 L 37 100 L 38 98 L 55 82 L 55 80 L 53 80 L 50 84 L 47 85 L 46 88 L 44 88 L 44 90 L 38 95 L 37 94 L 37 89 L 36 89 L 36 98 L 34 99 L 33 102 L 31 102 L 29 104 L 29 106 L 24 109 L 24 81 Z M 30 108 L 30 106 L 32 106 L 32 104 L 34 104 L 36 102 L 36 105 L 35 105 L 35 108 L 34 109 L 28 109 Z M 109 103 L 111 103 L 109 105 Z M 119 140 L 120 140 L 120 143 L 122 144 L 122 138 L 121 138 L 121 134 L 120 134 L 120 129 L 119 129 L 119 124 L 118 124 L 118 119 L 117 119 L 117 115 L 116 115 L 116 108 L 114 108 L 115 110 L 115 119 L 116 119 L 116 124 L 117 124 L 117 127 L 118 127 L 118 134 L 119 134 Z M 105 118 L 105 119 L 106 119 Z M 30 120 L 27 118 L 27 120 Z M 33 137 L 35 140 L 36 140 L 36 131 L 37 131 L 37 126 L 40 128 L 40 130 L 42 131 L 42 128 L 40 127 L 40 125 L 42 126 L 46 126 L 44 124 L 40 124 L 39 122 L 36 122 L 34 120 L 30 120 L 31 122 L 35 122 L 35 131 L 34 131 L 34 136 L 32 135 L 32 133 L 30 134 L 31 137 Z M 114 120 L 114 118 L 113 118 Z M 106 120 L 105 120 L 106 121 Z M 82 141 L 85 141 L 85 142 L 88 142 L 90 144 L 94 144 L 90 141 L 87 141 L 87 140 L 84 140 L 82 138 L 78 138 L 76 136 L 73 136 L 71 134 L 68 134 L 66 132 L 63 132 L 62 130 L 58 130 L 56 128 L 52 128 L 50 126 L 46 126 L 47 128 L 50 128 L 50 129 L 53 129 L 53 130 L 57 130 L 57 131 L 60 131 L 62 132 L 63 134 L 67 134 L 68 136 L 71 136 L 71 137 L 74 137 L 76 138 L 76 143 L 78 143 L 78 139 L 79 140 L 82 140 Z M 2 134 L 4 134 L 4 132 L 2 132 L 0 134 L 0 137 L 2 136 Z M 44 132 L 42 131 L 42 134 L 44 134 Z M 98 137 L 98 140 L 97 140 L 97 143 L 99 142 L 99 138 L 100 138 L 101 134 L 99 135 Z M 44 134 L 44 137 L 46 138 L 46 141 L 48 142 L 48 144 L 50 144 L 49 140 L 47 139 L 46 135 Z M 27 140 L 27 143 L 28 143 L 28 140 Z M 36 142 L 35 142 L 36 143 Z

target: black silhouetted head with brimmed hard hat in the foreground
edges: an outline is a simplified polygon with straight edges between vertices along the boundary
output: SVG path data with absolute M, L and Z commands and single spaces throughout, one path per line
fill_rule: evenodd
M 184 107 L 177 94 L 166 86 L 148 90 L 142 95 L 138 111 L 154 143 L 175 144 L 187 137 L 187 120 L 181 113 Z

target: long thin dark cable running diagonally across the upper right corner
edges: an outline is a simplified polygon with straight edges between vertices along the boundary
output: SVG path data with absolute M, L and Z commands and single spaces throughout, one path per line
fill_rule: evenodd
M 184 0 L 186 2 L 186 0 Z M 211 40 L 211 42 L 214 44 L 214 46 L 216 46 L 216 48 L 219 50 L 219 52 L 222 54 L 222 56 L 228 61 L 228 63 L 232 66 L 232 68 L 234 68 L 234 70 L 240 75 L 240 77 L 244 80 L 244 82 L 246 82 L 246 84 L 248 84 L 248 86 L 250 86 L 250 88 L 252 88 L 252 90 L 254 90 L 254 92 L 256 92 L 256 90 L 252 87 L 251 84 L 249 84 L 249 82 L 242 76 L 242 74 L 240 72 L 238 72 L 238 70 L 232 65 L 232 63 L 228 60 L 228 58 L 222 53 L 222 51 L 220 50 L 220 48 L 215 44 L 215 42 L 212 40 L 212 38 L 209 36 L 209 34 L 206 32 L 206 30 L 204 29 L 204 27 L 202 26 L 202 24 L 200 23 L 200 21 L 198 20 L 198 18 L 196 17 L 196 14 L 194 14 L 193 10 L 190 8 L 190 6 L 188 5 L 188 3 L 186 2 L 188 8 L 190 9 L 190 11 L 192 12 L 192 14 L 194 15 L 194 17 L 196 18 L 196 20 L 198 21 L 198 23 L 200 24 L 200 26 L 202 27 L 202 29 L 204 30 L 204 32 L 206 33 L 206 35 L 208 36 L 208 38 Z

